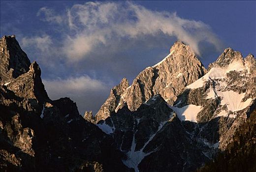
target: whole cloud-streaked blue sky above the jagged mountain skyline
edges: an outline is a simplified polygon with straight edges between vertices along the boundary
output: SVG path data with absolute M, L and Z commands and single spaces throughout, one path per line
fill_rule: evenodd
M 256 1 L 0 1 L 0 36 L 15 34 L 52 99 L 96 113 L 180 39 L 205 66 L 231 47 L 256 55 Z

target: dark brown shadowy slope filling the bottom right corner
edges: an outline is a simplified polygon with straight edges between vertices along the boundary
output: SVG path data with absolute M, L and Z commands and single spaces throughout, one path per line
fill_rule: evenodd
M 255 172 L 256 164 L 256 110 L 233 136 L 223 153 L 207 163 L 198 172 Z

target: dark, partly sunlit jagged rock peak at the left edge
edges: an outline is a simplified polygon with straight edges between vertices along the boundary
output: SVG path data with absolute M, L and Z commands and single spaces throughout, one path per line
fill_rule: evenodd
M 38 64 L 30 62 L 15 36 L 3 36 L 0 43 L 0 85 L 26 99 L 29 103 L 25 109 L 39 113 L 49 97 L 42 84 Z

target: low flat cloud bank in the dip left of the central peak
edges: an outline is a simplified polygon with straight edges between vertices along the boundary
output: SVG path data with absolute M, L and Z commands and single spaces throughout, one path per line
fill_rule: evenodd
M 110 90 L 109 84 L 92 79 L 87 75 L 67 79 L 43 79 L 43 84 L 51 99 L 70 97 L 77 103 L 82 115 L 85 110 L 92 110 L 96 113 L 106 99 L 105 92 Z

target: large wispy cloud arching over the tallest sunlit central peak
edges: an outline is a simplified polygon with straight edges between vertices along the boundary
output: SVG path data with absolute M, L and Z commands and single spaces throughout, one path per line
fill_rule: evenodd
M 67 9 L 64 17 L 55 16 L 54 11 L 46 7 L 39 12 L 45 14 L 45 21 L 65 23 L 69 27 L 64 33 L 63 52 L 71 61 L 87 58 L 91 52 L 121 39 L 157 37 L 162 33 L 189 44 L 198 55 L 201 54 L 198 45 L 202 41 L 214 45 L 217 50 L 222 48 L 221 41 L 207 24 L 183 19 L 176 13 L 152 11 L 132 2 L 75 4 Z M 62 20 L 64 18 L 66 21 Z

